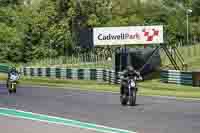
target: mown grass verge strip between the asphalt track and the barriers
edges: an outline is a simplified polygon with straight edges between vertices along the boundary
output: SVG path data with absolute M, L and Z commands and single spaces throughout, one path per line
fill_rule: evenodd
M 0 80 L 5 80 L 6 75 L 0 75 Z M 20 80 L 22 85 L 47 86 L 50 88 L 71 88 L 78 90 L 103 91 L 119 93 L 119 85 L 111 85 L 88 80 L 64 80 L 53 78 L 28 78 Z M 171 96 L 178 98 L 199 98 L 200 87 L 183 86 L 161 83 L 159 79 L 139 82 L 139 95 L 142 96 Z

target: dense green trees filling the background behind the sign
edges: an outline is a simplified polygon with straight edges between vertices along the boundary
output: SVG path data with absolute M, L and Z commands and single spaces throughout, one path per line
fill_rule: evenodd
M 185 43 L 187 9 L 190 38 L 198 39 L 199 0 L 0 0 L 0 62 L 90 51 L 80 48 L 80 33 L 99 26 L 159 24 L 169 44 Z

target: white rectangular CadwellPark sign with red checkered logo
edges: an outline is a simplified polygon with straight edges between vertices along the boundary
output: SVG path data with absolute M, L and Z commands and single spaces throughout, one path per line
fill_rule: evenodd
M 95 46 L 125 44 L 161 44 L 163 43 L 163 26 L 94 28 L 93 43 Z

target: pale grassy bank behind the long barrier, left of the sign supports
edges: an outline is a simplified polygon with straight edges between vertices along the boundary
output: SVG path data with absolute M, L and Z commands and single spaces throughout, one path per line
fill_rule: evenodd
M 88 60 L 88 61 L 86 61 Z M 108 61 L 106 57 L 90 54 L 90 61 L 85 54 L 78 57 L 57 57 L 35 60 L 27 64 L 30 67 L 64 67 L 64 68 L 104 68 L 111 69 L 112 61 Z

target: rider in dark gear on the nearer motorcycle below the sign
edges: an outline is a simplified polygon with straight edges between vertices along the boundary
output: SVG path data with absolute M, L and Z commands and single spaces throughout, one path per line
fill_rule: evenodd
M 140 75 L 140 72 L 136 71 L 134 67 L 130 65 L 122 72 L 122 80 L 121 80 L 121 87 L 120 87 L 121 96 L 124 95 L 124 92 L 125 92 L 124 89 L 128 87 L 127 86 L 128 78 L 135 77 L 135 76 L 142 80 L 142 76 Z M 137 91 L 137 88 L 136 88 L 136 91 Z

